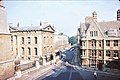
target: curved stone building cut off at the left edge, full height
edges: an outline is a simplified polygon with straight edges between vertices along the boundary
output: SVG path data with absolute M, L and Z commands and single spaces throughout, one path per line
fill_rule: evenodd
M 5 80 L 14 74 L 15 55 L 11 47 L 7 14 L 3 1 L 0 0 L 0 80 Z

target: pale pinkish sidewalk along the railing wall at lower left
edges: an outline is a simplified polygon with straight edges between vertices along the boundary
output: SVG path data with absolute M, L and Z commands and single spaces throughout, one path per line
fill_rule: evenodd
M 57 66 L 59 66 L 60 64 L 61 62 L 58 62 Z M 22 76 L 20 78 L 16 78 L 15 76 L 13 76 L 7 80 L 35 80 L 40 76 L 43 76 L 44 74 L 46 74 L 46 72 L 49 72 L 50 70 L 52 70 L 53 67 L 54 65 L 41 66 L 39 69 L 36 69 L 36 67 L 33 67 L 23 71 Z

